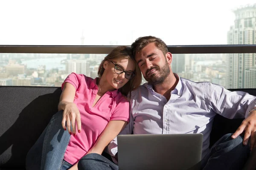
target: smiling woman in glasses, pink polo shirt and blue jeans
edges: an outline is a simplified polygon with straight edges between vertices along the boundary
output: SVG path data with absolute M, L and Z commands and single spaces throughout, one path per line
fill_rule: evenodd
M 65 79 L 59 112 L 29 150 L 27 170 L 77 169 L 84 155 L 102 154 L 128 123 L 126 96 L 141 83 L 131 48 L 114 48 L 99 65 L 98 75 L 92 79 L 72 73 Z

